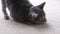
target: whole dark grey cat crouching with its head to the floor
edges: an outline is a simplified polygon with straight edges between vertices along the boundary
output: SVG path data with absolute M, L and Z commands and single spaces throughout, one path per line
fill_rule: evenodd
M 43 10 L 45 4 L 46 2 L 43 2 L 38 6 L 33 6 L 29 0 L 2 0 L 2 11 L 6 20 L 10 19 L 6 12 L 6 7 L 8 7 L 11 17 L 17 22 L 43 24 L 46 22 Z

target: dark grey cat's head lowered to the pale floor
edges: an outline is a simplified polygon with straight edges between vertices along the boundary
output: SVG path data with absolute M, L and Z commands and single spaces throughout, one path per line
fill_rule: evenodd
M 44 23 L 46 22 L 46 15 L 43 10 L 45 2 L 38 6 L 32 6 L 29 12 L 29 20 L 34 23 Z

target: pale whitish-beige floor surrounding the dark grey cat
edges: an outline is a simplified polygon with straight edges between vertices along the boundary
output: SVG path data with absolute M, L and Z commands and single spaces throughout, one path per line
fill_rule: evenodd
M 46 2 L 44 10 L 47 22 L 43 25 L 26 25 L 14 22 L 12 19 L 5 20 L 0 0 L 0 34 L 60 34 L 60 0 L 30 1 L 35 6 Z

